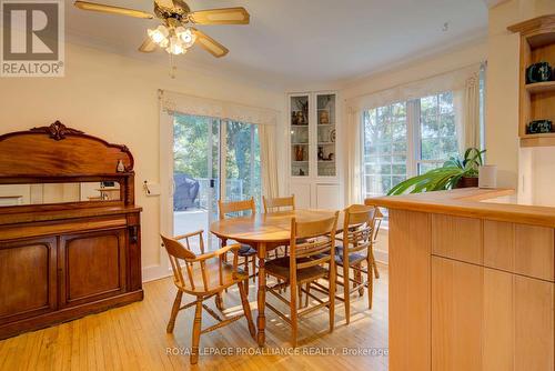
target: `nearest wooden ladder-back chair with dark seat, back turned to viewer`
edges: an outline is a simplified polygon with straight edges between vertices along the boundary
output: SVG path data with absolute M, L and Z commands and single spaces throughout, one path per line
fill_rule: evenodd
M 291 220 L 290 255 L 270 260 L 265 264 L 266 273 L 275 277 L 281 282 L 269 287 L 268 292 L 289 305 L 289 317 L 278 308 L 266 302 L 266 307 L 275 312 L 292 328 L 291 343 L 296 347 L 297 320 L 300 317 L 312 313 L 321 308 L 330 312 L 330 332 L 334 328 L 335 317 L 335 231 L 339 211 L 331 218 L 297 221 Z M 299 241 L 303 241 L 299 243 Z M 329 285 L 317 282 L 325 279 Z M 304 285 L 304 287 L 303 287 Z M 280 293 L 282 288 L 290 287 L 290 299 Z M 310 288 L 324 293 L 327 298 L 321 299 L 310 292 Z M 297 291 L 304 292 L 317 304 L 297 308 Z

